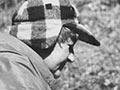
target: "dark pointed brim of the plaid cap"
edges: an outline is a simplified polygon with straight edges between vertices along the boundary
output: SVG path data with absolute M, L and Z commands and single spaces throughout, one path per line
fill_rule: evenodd
M 69 28 L 73 33 L 78 34 L 79 40 L 94 46 L 100 46 L 100 42 L 83 25 L 81 24 L 76 25 L 75 23 L 67 23 L 63 26 Z

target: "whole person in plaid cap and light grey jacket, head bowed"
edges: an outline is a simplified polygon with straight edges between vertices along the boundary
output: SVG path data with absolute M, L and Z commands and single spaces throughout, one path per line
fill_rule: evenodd
M 77 13 L 69 0 L 26 0 L 13 15 L 8 32 L 12 36 L 0 33 L 0 88 L 56 90 L 55 78 L 68 61 L 74 61 L 77 35 L 70 29 L 78 23 Z

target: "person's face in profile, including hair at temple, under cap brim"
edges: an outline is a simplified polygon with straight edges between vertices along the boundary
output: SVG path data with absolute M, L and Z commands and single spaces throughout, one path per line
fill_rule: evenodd
M 65 31 L 63 32 L 63 34 L 61 32 L 51 54 L 44 60 L 55 77 L 60 76 L 61 70 L 67 62 L 73 62 L 75 60 L 73 46 L 76 40 L 74 35 L 69 30 L 66 30 L 66 33 Z

